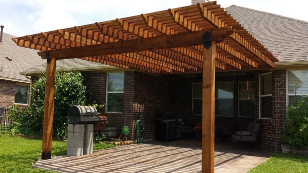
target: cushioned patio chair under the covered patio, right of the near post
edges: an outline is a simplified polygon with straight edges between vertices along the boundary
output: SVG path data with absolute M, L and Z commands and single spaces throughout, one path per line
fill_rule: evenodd
M 261 124 L 258 122 L 248 123 L 247 132 L 249 135 L 232 134 L 232 141 L 256 142 L 260 131 Z M 246 132 L 246 133 L 247 133 Z M 243 133 L 244 134 L 244 133 Z

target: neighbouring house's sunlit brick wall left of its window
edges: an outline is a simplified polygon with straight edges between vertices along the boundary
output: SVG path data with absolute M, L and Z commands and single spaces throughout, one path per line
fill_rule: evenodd
M 15 82 L 0 80 L 0 107 L 8 107 L 14 104 Z

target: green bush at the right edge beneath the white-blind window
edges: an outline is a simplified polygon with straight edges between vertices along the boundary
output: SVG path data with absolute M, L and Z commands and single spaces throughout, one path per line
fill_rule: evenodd
M 296 106 L 289 106 L 286 117 L 282 142 L 300 149 L 308 146 L 308 97 L 304 96 Z

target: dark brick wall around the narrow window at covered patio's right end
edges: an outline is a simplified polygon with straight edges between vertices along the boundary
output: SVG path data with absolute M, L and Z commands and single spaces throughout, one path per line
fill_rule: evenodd
M 255 120 L 261 123 L 257 147 L 270 152 L 281 151 L 280 135 L 283 133 L 283 122 L 286 112 L 286 71 L 272 71 L 272 118 L 259 118 L 259 74 L 255 78 Z

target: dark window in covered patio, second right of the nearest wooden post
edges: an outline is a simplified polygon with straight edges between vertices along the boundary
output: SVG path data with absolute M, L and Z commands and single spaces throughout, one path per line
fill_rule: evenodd
M 255 83 L 239 82 L 239 116 L 254 117 Z

